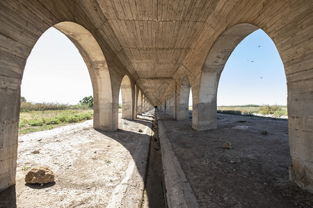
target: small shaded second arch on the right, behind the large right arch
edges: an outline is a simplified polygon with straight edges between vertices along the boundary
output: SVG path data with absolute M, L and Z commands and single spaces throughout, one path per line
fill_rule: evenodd
M 191 90 L 191 84 L 189 82 L 188 76 L 184 76 L 179 89 L 179 95 L 177 96 L 177 120 L 189 119 L 189 94 Z

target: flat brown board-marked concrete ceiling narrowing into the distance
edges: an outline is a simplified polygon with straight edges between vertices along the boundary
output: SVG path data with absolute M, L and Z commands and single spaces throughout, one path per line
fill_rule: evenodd
M 218 1 L 97 3 L 118 39 L 120 60 L 150 101 L 159 103 Z

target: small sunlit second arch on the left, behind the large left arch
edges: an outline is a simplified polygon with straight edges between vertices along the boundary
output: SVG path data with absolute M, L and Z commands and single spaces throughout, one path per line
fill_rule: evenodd
M 133 119 L 133 92 L 131 89 L 131 81 L 127 75 L 122 79 L 120 85 L 122 93 L 122 119 Z

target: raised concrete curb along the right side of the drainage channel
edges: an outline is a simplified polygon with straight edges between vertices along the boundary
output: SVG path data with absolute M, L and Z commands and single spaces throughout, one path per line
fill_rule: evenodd
M 157 119 L 167 205 L 168 207 L 199 207 L 193 190 L 172 150 L 163 123 L 159 120 L 158 112 Z

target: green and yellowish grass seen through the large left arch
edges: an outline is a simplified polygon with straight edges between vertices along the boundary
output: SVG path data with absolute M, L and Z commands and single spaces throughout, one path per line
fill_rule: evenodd
M 68 123 L 93 119 L 93 110 L 43 110 L 20 112 L 19 134 L 50 130 Z

